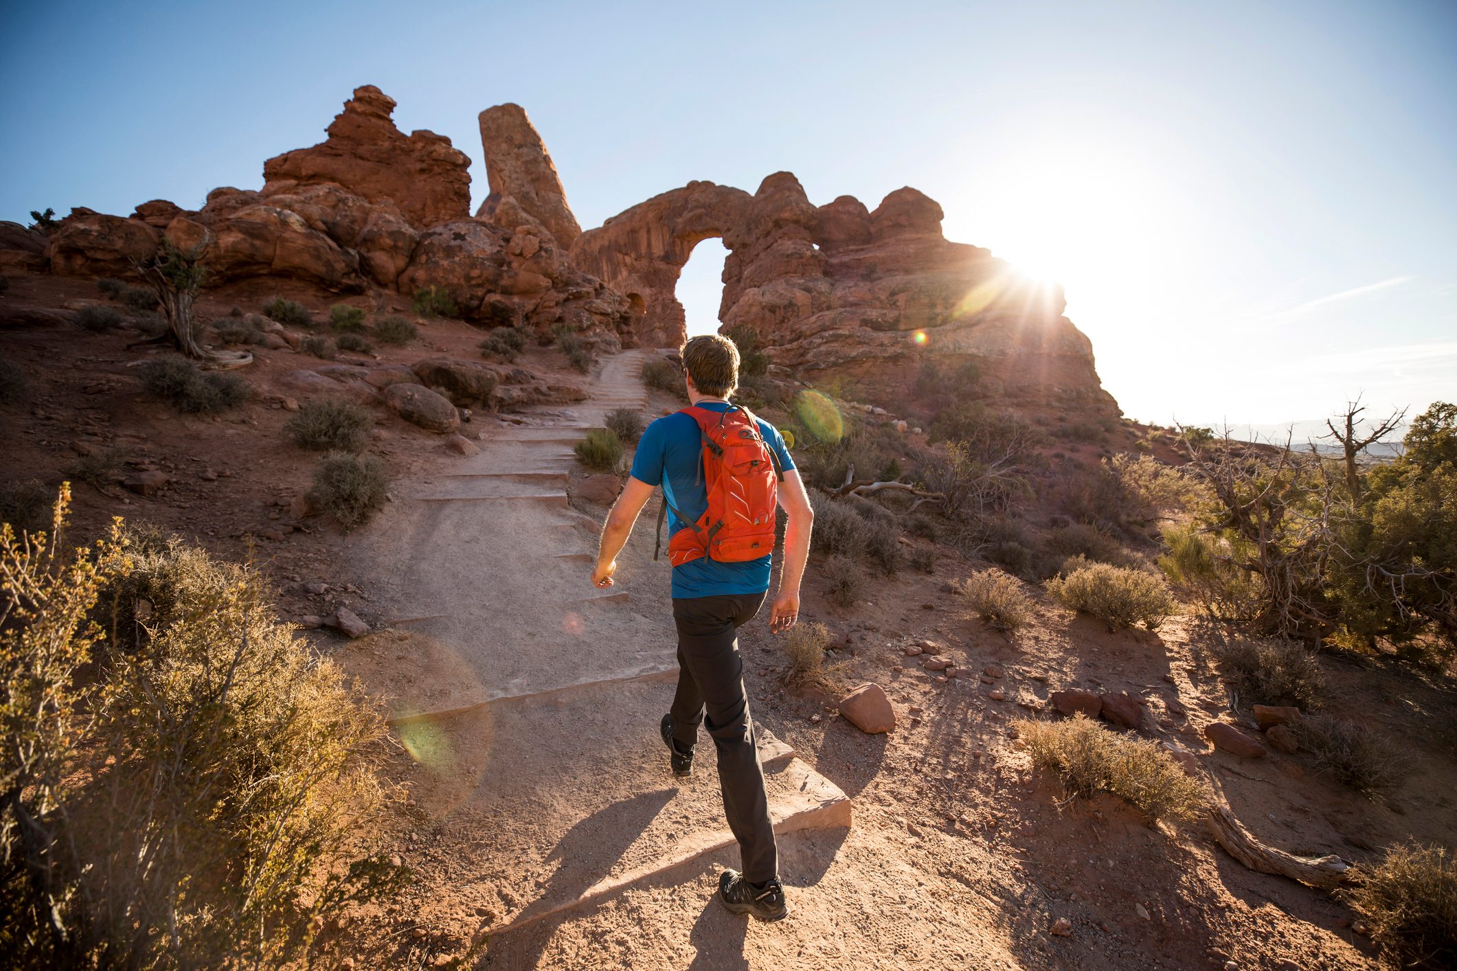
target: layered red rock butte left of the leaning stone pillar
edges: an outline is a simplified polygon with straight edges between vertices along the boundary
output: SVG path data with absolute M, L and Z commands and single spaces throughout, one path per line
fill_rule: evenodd
M 373 84 L 354 89 L 328 140 L 264 163 L 264 197 L 332 183 L 369 202 L 389 201 L 415 229 L 471 214 L 471 159 L 433 131 L 405 135 L 390 119 L 395 99 Z

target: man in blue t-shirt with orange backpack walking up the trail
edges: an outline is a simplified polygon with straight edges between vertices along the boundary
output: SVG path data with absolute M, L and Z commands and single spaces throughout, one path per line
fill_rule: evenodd
M 691 338 L 682 355 L 689 408 L 659 418 L 643 432 L 632 475 L 602 527 L 592 582 L 612 585 L 616 556 L 654 486 L 661 485 L 679 665 L 673 708 L 661 722 L 669 764 L 676 776 L 692 772 L 698 724 L 705 722 L 718 750 L 724 815 L 743 860 L 743 872 L 720 876 L 718 897 L 737 914 L 778 920 L 788 908 L 736 632 L 769 592 L 775 504 L 788 526 L 769 629 L 779 633 L 796 625 L 814 514 L 784 437 L 728 402 L 739 384 L 733 341 Z

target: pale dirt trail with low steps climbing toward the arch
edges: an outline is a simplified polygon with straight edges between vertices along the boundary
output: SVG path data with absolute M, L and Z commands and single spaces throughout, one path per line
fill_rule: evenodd
M 390 697 L 414 760 L 412 812 L 439 839 L 418 916 L 456 938 L 514 930 L 731 847 L 711 740 L 675 783 L 657 722 L 676 674 L 669 569 L 651 560 L 656 504 L 589 582 L 597 523 L 570 508 L 573 443 L 613 408 L 647 408 L 647 352 L 609 358 L 590 400 L 503 424 L 481 454 L 404 483 L 345 555 L 388 629 L 345 664 Z M 779 831 L 845 827 L 849 801 L 761 731 Z

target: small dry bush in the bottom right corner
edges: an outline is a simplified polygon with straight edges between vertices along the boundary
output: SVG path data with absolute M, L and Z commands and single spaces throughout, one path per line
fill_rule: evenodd
M 1407 843 L 1356 871 L 1346 892 L 1393 968 L 1457 968 L 1457 856 Z

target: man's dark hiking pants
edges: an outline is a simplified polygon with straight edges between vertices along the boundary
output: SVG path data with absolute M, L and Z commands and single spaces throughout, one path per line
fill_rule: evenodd
M 739 840 L 745 879 L 752 884 L 779 875 L 737 636 L 763 598 L 765 594 L 743 594 L 673 600 L 679 667 L 673 740 L 680 747 L 692 745 L 698 741 L 698 724 L 708 725 L 718 750 L 724 815 Z

